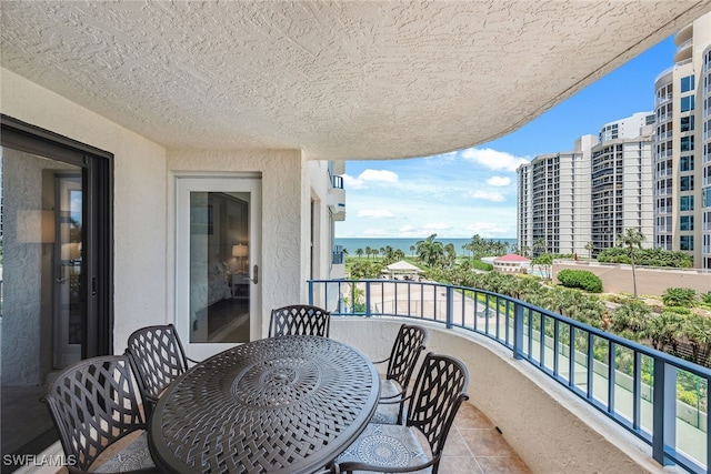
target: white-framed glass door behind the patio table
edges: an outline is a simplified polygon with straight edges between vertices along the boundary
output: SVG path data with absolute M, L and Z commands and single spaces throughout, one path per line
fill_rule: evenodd
M 260 181 L 178 182 L 176 326 L 187 351 L 203 357 L 249 342 L 259 330 Z

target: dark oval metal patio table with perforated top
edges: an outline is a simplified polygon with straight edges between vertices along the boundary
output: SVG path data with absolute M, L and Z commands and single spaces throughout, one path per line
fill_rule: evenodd
M 167 472 L 312 473 L 363 431 L 379 391 L 374 365 L 354 347 L 263 339 L 178 379 L 150 420 L 149 446 Z

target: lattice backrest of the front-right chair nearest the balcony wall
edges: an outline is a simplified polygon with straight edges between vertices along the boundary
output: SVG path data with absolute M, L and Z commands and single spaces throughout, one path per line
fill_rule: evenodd
M 432 456 L 440 457 L 454 415 L 469 395 L 469 371 L 458 359 L 429 353 L 422 362 L 408 407 L 405 425 L 427 437 Z M 433 465 L 437 472 L 439 460 Z

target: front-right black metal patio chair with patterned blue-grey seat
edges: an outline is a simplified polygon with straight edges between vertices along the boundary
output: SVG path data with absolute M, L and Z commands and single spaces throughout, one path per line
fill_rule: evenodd
M 408 395 L 404 425 L 369 424 L 336 458 L 332 471 L 437 474 L 454 416 L 469 400 L 468 384 L 469 372 L 461 361 L 429 353 Z

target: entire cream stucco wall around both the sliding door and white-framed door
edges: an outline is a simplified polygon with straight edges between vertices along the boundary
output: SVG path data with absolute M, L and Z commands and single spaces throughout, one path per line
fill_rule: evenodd
M 261 173 L 262 313 L 307 302 L 310 202 L 318 203 L 314 275 L 327 278 L 331 236 L 326 162 L 300 150 L 166 150 L 7 69 L 0 111 L 114 155 L 114 352 L 137 327 L 173 322 L 174 179 Z M 263 332 L 268 327 L 262 319 Z

